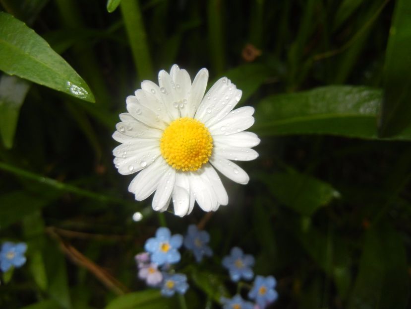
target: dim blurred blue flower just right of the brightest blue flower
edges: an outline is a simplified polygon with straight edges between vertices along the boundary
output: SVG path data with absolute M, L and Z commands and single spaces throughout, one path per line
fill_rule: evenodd
M 207 245 L 210 241 L 210 235 L 206 231 L 200 231 L 195 225 L 190 225 L 187 235 L 184 238 L 184 246 L 194 253 L 197 263 L 201 262 L 203 256 L 213 255 L 213 251 Z

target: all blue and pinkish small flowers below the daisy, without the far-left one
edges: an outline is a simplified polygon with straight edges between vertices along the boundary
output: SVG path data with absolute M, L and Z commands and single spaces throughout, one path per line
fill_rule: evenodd
M 197 262 L 201 262 L 204 256 L 212 256 L 213 251 L 208 246 L 210 235 L 198 230 L 195 225 L 188 227 L 185 237 L 180 234 L 172 235 L 167 228 L 159 228 L 156 236 L 147 239 L 142 252 L 136 255 L 138 265 L 138 277 L 145 280 L 151 287 L 161 289 L 162 295 L 170 297 L 184 294 L 188 290 L 187 276 L 175 273 L 171 265 L 180 261 L 181 255 L 178 249 L 182 245 L 190 250 Z M 252 255 L 234 247 L 230 255 L 223 258 L 222 264 L 229 271 L 233 282 L 252 280 L 254 272 L 252 267 L 255 260 Z M 221 303 L 224 309 L 265 309 L 275 302 L 278 294 L 275 290 L 276 280 L 273 276 L 255 276 L 251 290 L 248 292 L 248 299 L 245 301 L 237 294 L 233 298 L 222 298 Z

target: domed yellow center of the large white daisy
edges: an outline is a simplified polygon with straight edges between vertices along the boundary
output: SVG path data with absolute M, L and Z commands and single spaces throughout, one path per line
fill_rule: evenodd
M 160 151 L 176 170 L 195 171 L 208 162 L 213 138 L 205 125 L 193 118 L 174 120 L 163 132 Z

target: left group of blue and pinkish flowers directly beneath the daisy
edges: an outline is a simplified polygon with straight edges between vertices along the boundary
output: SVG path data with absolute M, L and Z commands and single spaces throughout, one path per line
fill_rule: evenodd
M 146 252 L 135 256 L 138 266 L 138 277 L 151 287 L 161 288 L 161 294 L 171 297 L 175 293 L 184 294 L 188 290 L 187 276 L 170 271 L 171 265 L 180 261 L 178 249 L 184 246 L 192 251 L 197 262 L 203 256 L 213 254 L 208 246 L 210 236 L 205 231 L 199 231 L 195 225 L 188 227 L 186 236 L 172 235 L 167 228 L 159 228 L 156 236 L 147 239 Z

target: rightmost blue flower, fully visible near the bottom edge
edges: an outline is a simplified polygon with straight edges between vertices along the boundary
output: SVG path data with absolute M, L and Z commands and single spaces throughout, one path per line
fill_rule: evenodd
M 255 300 L 260 309 L 264 309 L 278 298 L 278 293 L 274 290 L 276 284 L 277 281 L 273 276 L 256 276 L 248 297 Z

